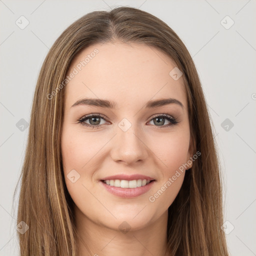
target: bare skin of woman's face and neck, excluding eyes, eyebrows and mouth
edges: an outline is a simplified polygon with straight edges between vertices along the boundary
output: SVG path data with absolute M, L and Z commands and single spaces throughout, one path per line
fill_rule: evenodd
M 61 138 L 65 183 L 75 203 L 79 255 L 167 255 L 167 209 L 185 172 L 154 202 L 148 198 L 192 156 L 182 76 L 174 80 L 169 75 L 176 64 L 158 49 L 121 42 L 83 49 L 67 74 L 95 48 L 99 52 L 65 87 Z M 116 101 L 116 108 L 71 107 L 85 97 Z M 143 108 L 148 100 L 167 97 L 179 100 L 184 108 L 174 103 Z M 78 122 L 91 113 L 105 116 L 100 118 L 101 127 L 92 129 Z M 166 126 L 170 121 L 163 119 L 157 125 L 152 116 L 164 113 L 178 123 Z M 123 118 L 131 123 L 127 131 L 118 127 Z M 84 122 L 93 125 L 93 121 Z M 80 175 L 74 183 L 67 177 L 72 169 Z M 99 181 L 118 173 L 148 175 L 156 182 L 142 195 L 122 198 L 102 188 Z M 118 227 L 123 221 L 130 228 L 125 233 Z

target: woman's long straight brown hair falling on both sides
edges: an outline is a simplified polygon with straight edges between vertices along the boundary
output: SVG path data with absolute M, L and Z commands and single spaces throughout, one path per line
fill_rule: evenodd
M 60 153 L 63 81 L 71 60 L 81 49 L 107 41 L 156 47 L 182 71 L 194 139 L 191 146 L 201 155 L 186 171 L 181 189 L 168 208 L 168 249 L 172 256 L 228 255 L 221 230 L 217 148 L 193 60 L 166 23 L 145 11 L 124 6 L 109 12 L 93 11 L 76 20 L 57 38 L 42 64 L 19 177 L 17 224 L 24 221 L 29 227 L 23 234 L 18 232 L 20 255 L 77 256 L 73 201 L 65 186 Z

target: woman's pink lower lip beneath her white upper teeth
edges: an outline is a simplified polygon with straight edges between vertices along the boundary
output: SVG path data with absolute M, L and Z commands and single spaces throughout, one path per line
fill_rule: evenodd
M 104 183 L 103 181 L 100 181 L 100 183 L 105 187 L 105 189 L 119 197 L 136 197 L 139 196 L 145 192 L 147 192 L 153 185 L 155 180 L 149 182 L 148 184 L 144 186 L 134 187 L 134 188 L 125 188 L 125 187 L 117 187 L 117 186 L 110 186 Z

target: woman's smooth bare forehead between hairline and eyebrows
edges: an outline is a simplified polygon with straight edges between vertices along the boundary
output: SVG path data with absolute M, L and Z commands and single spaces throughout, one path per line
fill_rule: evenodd
M 175 62 L 155 47 L 138 43 L 105 42 L 80 51 L 66 75 L 75 73 L 66 85 L 66 104 L 82 97 L 104 98 L 117 107 L 173 97 L 186 108 L 182 76 L 169 74 Z M 139 103 L 140 102 L 140 103 Z

